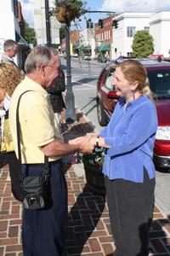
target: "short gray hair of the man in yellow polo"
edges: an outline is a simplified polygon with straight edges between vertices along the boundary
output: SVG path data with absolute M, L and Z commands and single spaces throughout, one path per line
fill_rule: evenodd
M 37 45 L 31 49 L 31 53 L 26 58 L 26 73 L 34 73 L 37 68 L 41 67 L 42 65 L 47 66 L 48 64 L 51 64 L 53 60 L 53 56 L 51 55 L 48 47 Z

